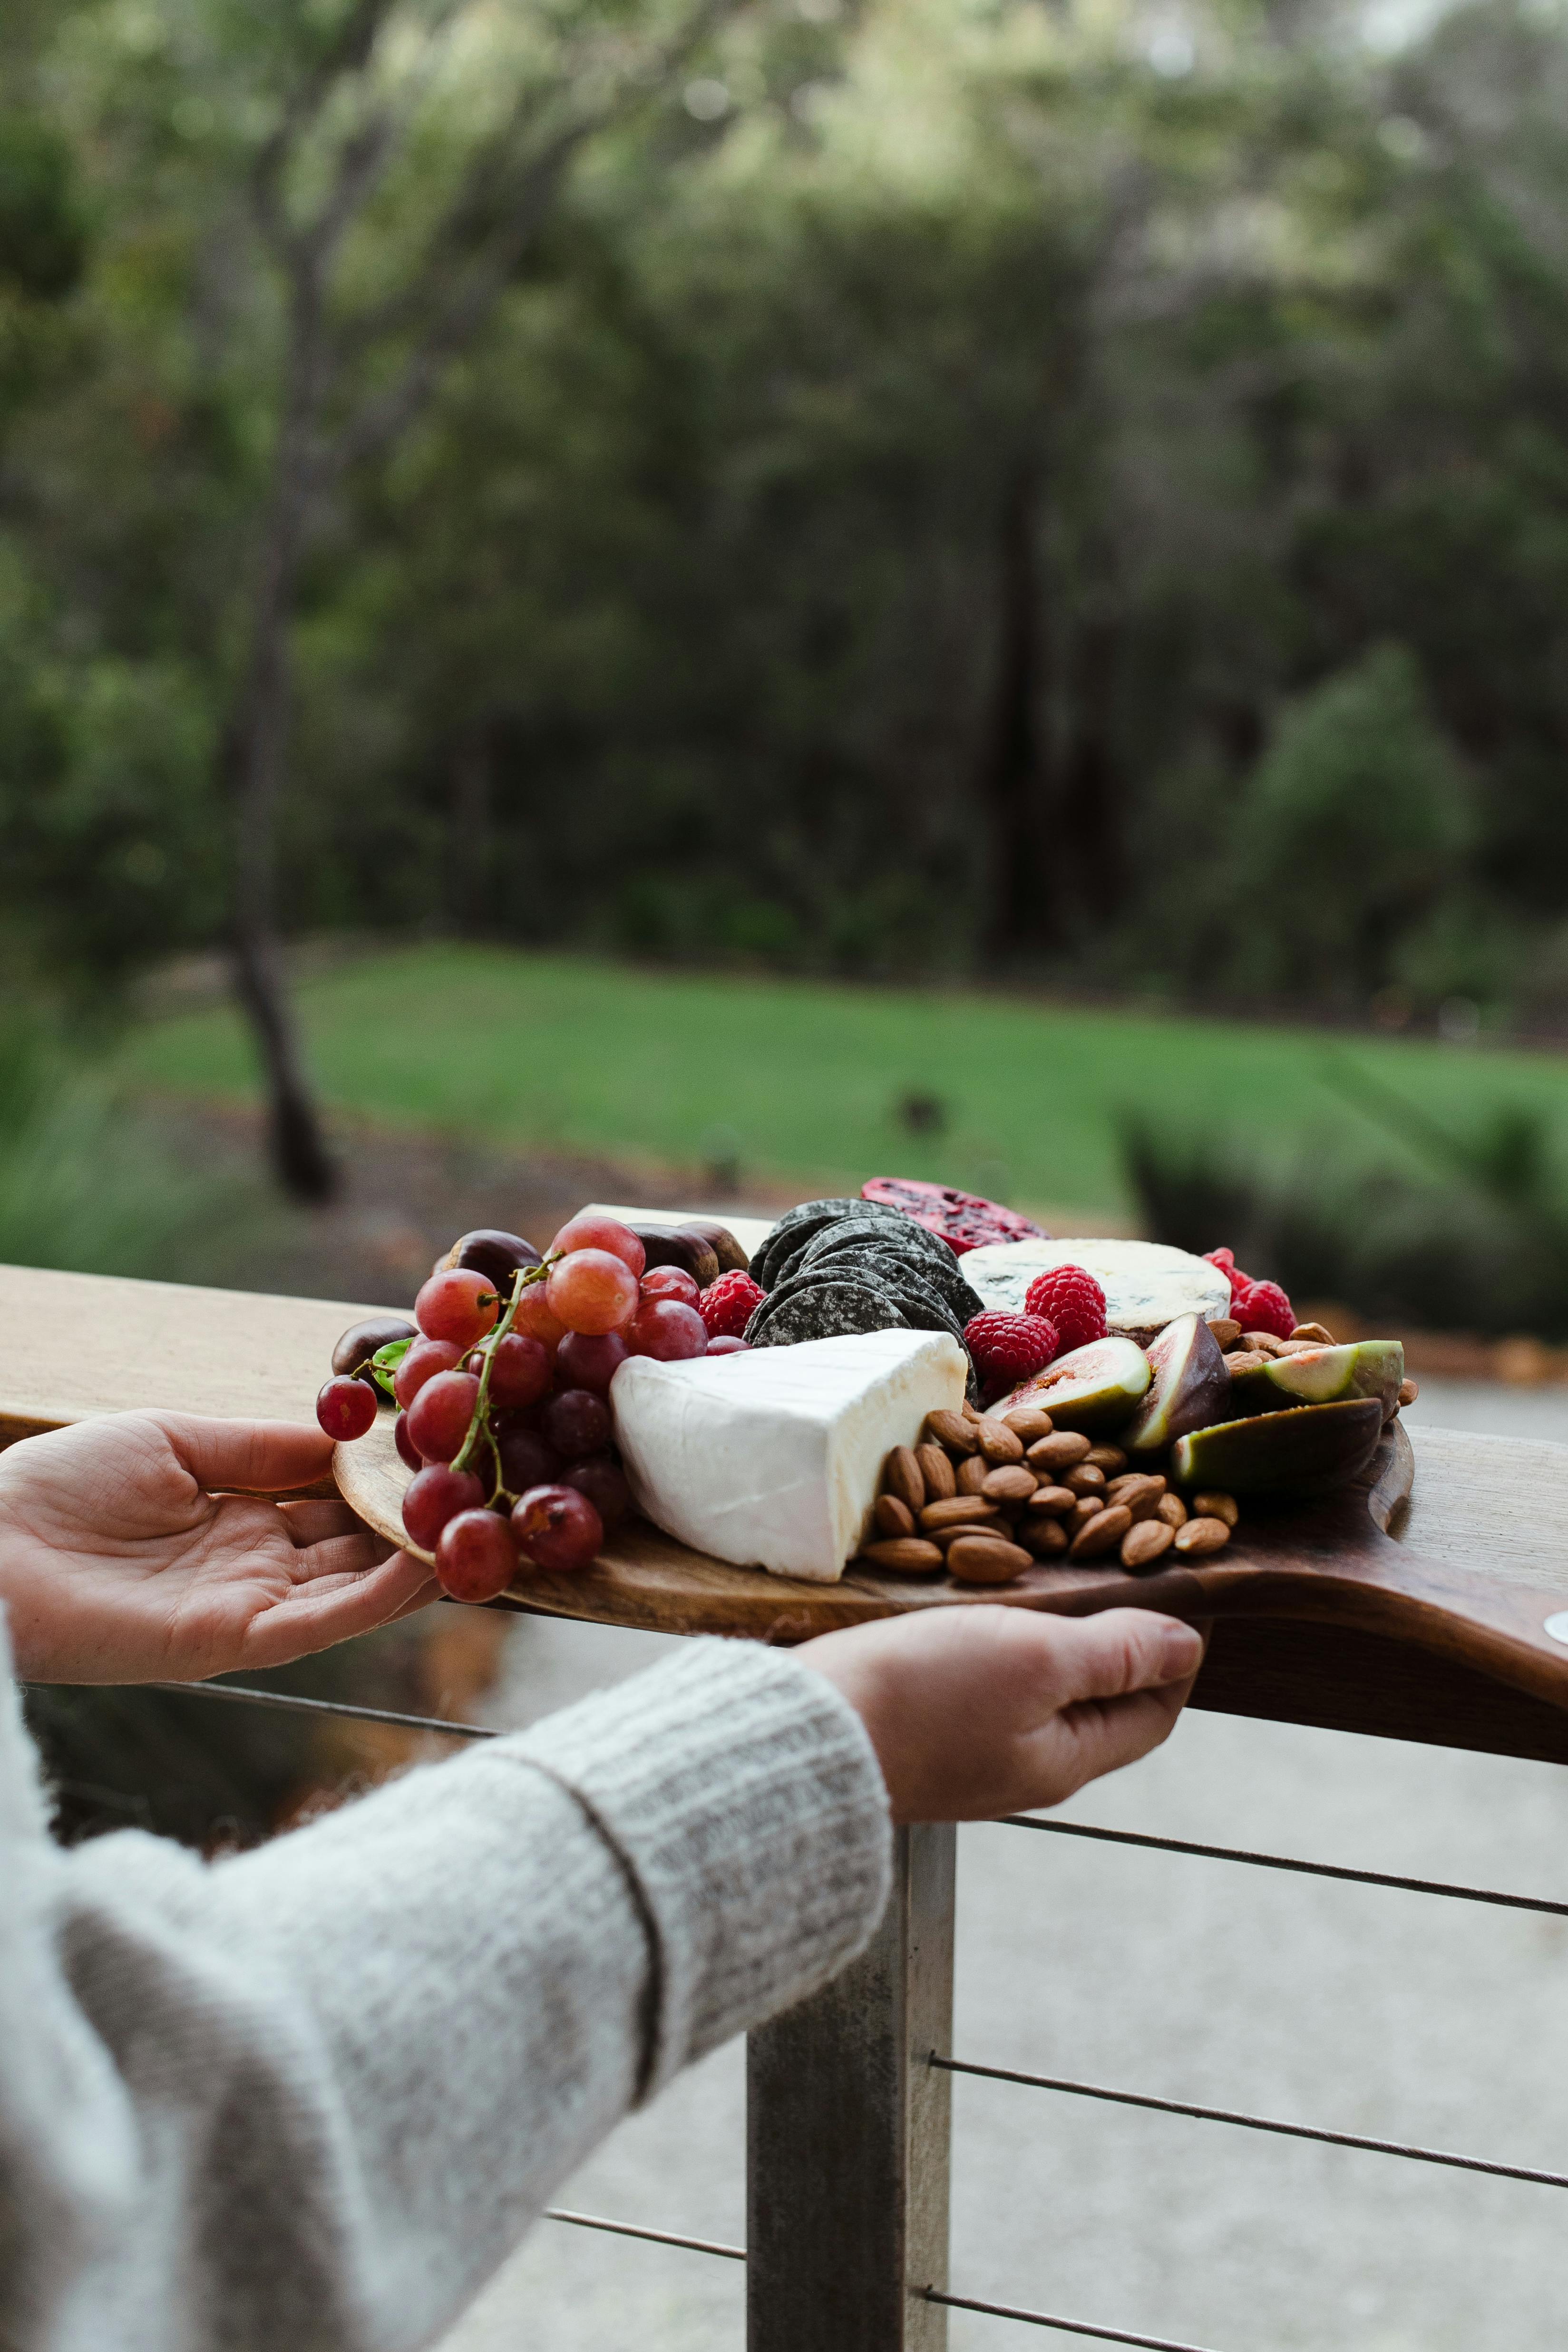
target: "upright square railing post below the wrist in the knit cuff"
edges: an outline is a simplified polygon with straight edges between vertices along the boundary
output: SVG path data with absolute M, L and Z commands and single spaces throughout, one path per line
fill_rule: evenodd
M 900 1830 L 870 1950 L 748 2042 L 748 2352 L 945 2352 L 952 1886 Z

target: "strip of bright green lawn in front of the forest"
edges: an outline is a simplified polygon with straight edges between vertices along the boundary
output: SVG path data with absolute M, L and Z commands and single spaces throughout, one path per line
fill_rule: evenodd
M 310 981 L 301 1014 L 327 1098 L 376 1120 L 689 1167 L 733 1148 L 743 1174 L 936 1176 L 1020 1207 L 1126 1209 L 1124 1105 L 1328 1138 L 1354 1124 L 1321 1077 L 1338 1054 L 1455 1120 L 1500 1098 L 1568 1110 L 1568 1063 L 1547 1054 L 501 948 L 367 957 Z M 127 1065 L 186 1094 L 256 1087 L 226 1009 L 146 1025 Z M 940 1096 L 945 1134 L 905 1134 L 912 1091 Z

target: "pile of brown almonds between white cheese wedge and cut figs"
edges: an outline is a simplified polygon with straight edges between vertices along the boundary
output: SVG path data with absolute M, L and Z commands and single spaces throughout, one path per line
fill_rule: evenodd
M 919 1446 L 882 1465 L 877 1534 L 860 1557 L 903 1576 L 947 1569 L 966 1585 L 1004 1585 L 1037 1559 L 1107 1559 L 1152 1569 L 1164 1552 L 1201 1559 L 1229 1543 L 1237 1503 L 1182 1503 L 1164 1477 L 1128 1470 L 1119 1446 L 1056 1430 L 1051 1414 L 929 1414 Z

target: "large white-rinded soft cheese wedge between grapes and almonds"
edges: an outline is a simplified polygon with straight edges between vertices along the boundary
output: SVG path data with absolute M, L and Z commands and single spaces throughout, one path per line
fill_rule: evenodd
M 945 1331 L 853 1331 L 658 1364 L 635 1355 L 609 1402 L 637 1510 L 741 1569 L 837 1583 L 870 1534 L 882 1465 L 926 1414 L 964 1402 Z

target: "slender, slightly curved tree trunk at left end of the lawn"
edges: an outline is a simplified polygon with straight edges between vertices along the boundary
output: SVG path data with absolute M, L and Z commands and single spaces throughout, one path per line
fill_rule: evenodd
M 306 1082 L 299 1030 L 277 955 L 277 804 L 289 757 L 289 609 L 303 536 L 303 506 L 287 449 L 266 534 L 249 677 L 228 729 L 233 790 L 233 957 L 235 995 L 256 1033 L 268 1087 L 273 1169 L 292 1200 L 331 1200 L 339 1171 Z

